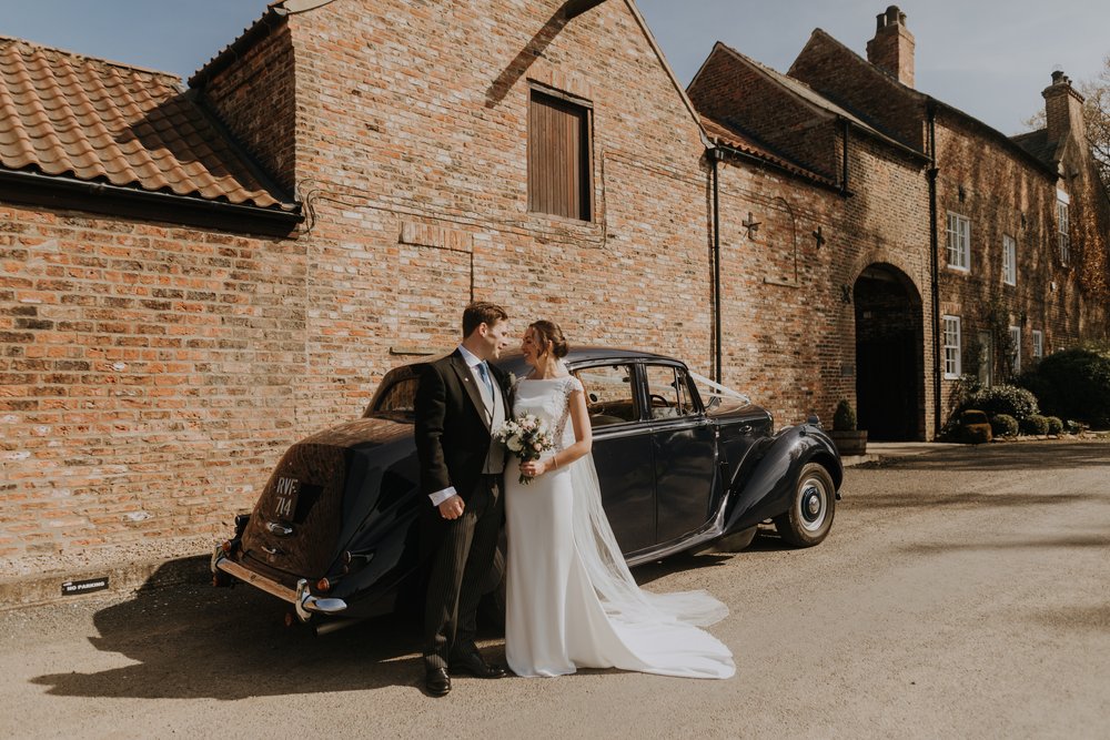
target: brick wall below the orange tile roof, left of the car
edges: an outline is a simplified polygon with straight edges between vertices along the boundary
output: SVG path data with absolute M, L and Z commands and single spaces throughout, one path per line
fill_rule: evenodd
M 0 557 L 226 529 L 303 429 L 302 247 L 0 205 Z

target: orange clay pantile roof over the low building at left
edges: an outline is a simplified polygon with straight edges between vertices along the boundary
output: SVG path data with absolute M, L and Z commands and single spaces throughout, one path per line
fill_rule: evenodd
M 0 169 L 283 205 L 175 75 L 8 37 L 0 37 Z

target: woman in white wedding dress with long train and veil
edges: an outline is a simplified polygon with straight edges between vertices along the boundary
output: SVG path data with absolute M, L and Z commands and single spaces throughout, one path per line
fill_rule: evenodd
M 695 625 L 728 609 L 705 591 L 650 594 L 636 585 L 602 509 L 582 383 L 561 358 L 559 327 L 537 321 L 522 351 L 532 373 L 514 387 L 513 415 L 554 430 L 554 454 L 505 476 L 508 533 L 505 657 L 518 676 L 620 668 L 728 678 L 728 648 Z

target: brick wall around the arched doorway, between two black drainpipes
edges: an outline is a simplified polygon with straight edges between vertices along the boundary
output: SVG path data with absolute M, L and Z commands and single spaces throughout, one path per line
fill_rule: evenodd
M 725 382 L 745 389 L 780 424 L 817 413 L 831 422 L 841 398 L 857 407 L 852 290 L 865 270 L 905 275 L 920 334 L 912 424 L 931 436 L 932 331 L 928 200 L 919 162 L 881 142 L 849 144 L 850 196 L 774 170 L 722 170 L 722 254 L 726 283 Z M 741 222 L 760 222 L 750 234 Z M 899 214 L 891 217 L 891 214 Z M 825 240 L 818 246 L 814 232 Z

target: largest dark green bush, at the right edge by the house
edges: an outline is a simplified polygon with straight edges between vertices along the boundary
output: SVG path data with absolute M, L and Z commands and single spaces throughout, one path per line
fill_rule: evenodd
M 1091 345 L 1054 352 L 1021 383 L 1040 391 L 1049 414 L 1110 426 L 1110 349 Z

